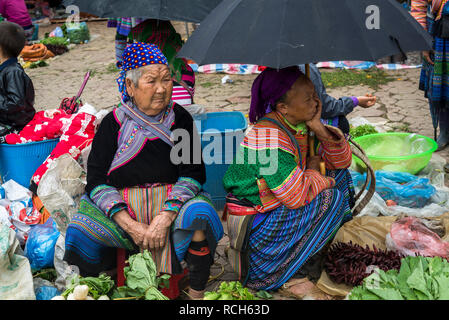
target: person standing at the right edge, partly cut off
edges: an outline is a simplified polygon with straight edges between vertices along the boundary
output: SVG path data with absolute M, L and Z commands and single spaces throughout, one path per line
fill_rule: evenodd
M 449 144 L 449 5 L 447 0 L 412 0 L 411 15 L 434 39 L 433 50 L 422 53 L 419 89 L 429 100 L 434 138 L 440 151 Z

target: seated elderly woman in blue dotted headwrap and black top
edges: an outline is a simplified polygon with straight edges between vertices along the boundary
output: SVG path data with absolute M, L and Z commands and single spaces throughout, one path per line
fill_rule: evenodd
M 193 161 L 200 142 L 192 116 L 172 102 L 170 70 L 157 46 L 129 45 L 119 67 L 122 101 L 93 140 L 87 195 L 68 227 L 64 260 L 83 276 L 97 275 L 115 267 L 116 248 L 148 249 L 160 273 L 181 273 L 185 260 L 190 295 L 201 298 L 223 228 L 201 191 L 205 166 Z M 175 143 L 176 129 L 189 141 Z M 178 143 L 190 154 L 177 158 Z

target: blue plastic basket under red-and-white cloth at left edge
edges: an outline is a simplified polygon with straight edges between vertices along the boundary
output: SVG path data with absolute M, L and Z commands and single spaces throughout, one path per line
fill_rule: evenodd
M 24 144 L 0 144 L 2 181 L 13 179 L 28 188 L 34 172 L 47 159 L 58 142 L 59 139 L 51 139 Z

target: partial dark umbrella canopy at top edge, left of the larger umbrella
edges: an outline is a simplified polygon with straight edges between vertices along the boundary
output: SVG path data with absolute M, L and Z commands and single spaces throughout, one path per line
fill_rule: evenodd
M 138 17 L 201 22 L 221 0 L 64 0 L 100 18 Z

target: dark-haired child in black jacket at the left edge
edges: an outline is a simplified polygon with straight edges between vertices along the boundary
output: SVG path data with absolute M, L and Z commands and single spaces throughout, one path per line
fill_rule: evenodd
M 33 82 L 17 61 L 25 41 L 21 26 L 0 22 L 0 143 L 6 134 L 20 132 L 36 113 Z

